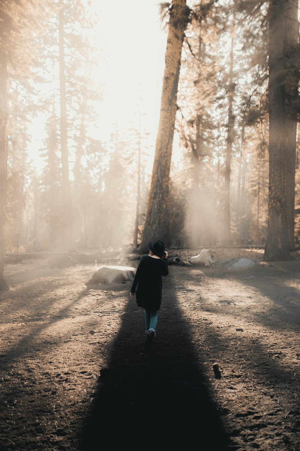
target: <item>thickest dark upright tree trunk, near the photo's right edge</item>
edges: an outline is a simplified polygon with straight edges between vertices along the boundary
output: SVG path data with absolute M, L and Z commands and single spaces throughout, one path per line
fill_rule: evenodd
M 296 0 L 269 5 L 269 205 L 265 261 L 290 260 L 293 249 L 296 168 Z M 282 20 L 283 18 L 283 20 Z

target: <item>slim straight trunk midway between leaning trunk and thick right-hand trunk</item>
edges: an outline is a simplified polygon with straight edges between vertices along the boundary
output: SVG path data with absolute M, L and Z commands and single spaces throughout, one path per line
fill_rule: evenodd
M 234 115 L 233 115 L 233 96 L 234 96 L 234 83 L 233 83 L 233 42 L 234 42 L 234 17 L 233 26 L 231 30 L 231 50 L 230 50 L 230 68 L 229 68 L 229 86 L 228 86 L 228 126 L 227 126 L 227 139 L 226 139 L 226 161 L 225 161 L 225 185 L 224 185 L 224 233 L 222 244 L 231 243 L 230 232 L 230 172 L 231 172 L 231 154 L 233 143 L 233 127 L 234 127 Z

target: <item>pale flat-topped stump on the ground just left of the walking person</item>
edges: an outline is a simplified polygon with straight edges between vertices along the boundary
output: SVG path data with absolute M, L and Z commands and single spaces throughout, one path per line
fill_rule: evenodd
M 130 266 L 103 266 L 96 271 L 85 285 L 111 284 L 113 282 L 132 282 L 135 268 Z

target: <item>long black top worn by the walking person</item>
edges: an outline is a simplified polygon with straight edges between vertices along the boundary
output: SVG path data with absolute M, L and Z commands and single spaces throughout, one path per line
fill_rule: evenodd
M 167 258 L 153 258 L 143 255 L 136 270 L 130 292 L 134 293 L 136 285 L 137 298 L 143 299 L 146 310 L 158 310 L 161 306 L 162 277 L 169 274 Z

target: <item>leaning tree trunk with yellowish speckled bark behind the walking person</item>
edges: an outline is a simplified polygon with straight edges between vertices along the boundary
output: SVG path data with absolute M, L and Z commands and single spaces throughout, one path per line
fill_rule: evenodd
M 189 9 L 186 0 L 173 0 L 170 9 L 169 32 L 166 46 L 161 111 L 155 145 L 151 187 L 143 231 L 141 252 L 148 250 L 148 242 L 164 237 L 166 205 L 169 192 L 169 175 L 177 111 L 177 89 L 181 64 L 184 30 Z

